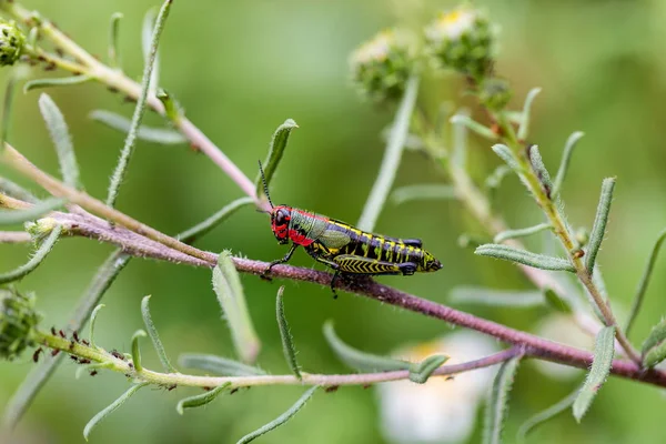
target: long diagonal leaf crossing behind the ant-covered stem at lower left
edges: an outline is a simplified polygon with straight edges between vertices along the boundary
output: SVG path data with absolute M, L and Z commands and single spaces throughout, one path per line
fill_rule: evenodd
M 68 331 L 80 331 L 83 327 L 90 313 L 99 304 L 102 295 L 109 290 L 109 286 L 111 286 L 130 259 L 131 256 L 125 255 L 121 250 L 117 250 L 109 255 L 83 293 L 73 313 L 70 314 L 69 319 L 71 321 L 68 325 Z M 2 422 L 8 428 L 13 428 L 20 421 L 23 413 L 26 413 L 32 403 L 32 400 L 34 400 L 41 387 L 44 386 L 58 365 L 62 362 L 63 356 L 65 354 L 60 353 L 56 357 L 40 361 L 36 369 L 21 383 L 4 408 Z

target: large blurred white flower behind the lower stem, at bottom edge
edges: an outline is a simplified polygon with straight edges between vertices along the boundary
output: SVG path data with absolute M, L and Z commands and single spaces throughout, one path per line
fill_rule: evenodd
M 444 353 L 446 364 L 476 360 L 497 352 L 495 342 L 474 332 L 448 334 L 431 343 L 396 352 L 396 357 L 422 361 Z M 492 385 L 494 369 L 433 376 L 425 384 L 398 381 L 380 384 L 382 431 L 392 443 L 460 443 L 474 431 L 476 411 Z

